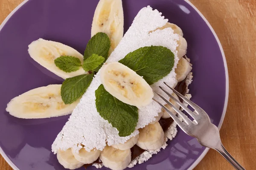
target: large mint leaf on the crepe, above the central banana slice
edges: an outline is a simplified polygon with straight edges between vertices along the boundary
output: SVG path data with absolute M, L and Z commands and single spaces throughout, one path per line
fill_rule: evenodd
M 152 85 L 167 76 L 174 65 L 174 54 L 163 46 L 142 47 L 119 61 L 131 68 Z

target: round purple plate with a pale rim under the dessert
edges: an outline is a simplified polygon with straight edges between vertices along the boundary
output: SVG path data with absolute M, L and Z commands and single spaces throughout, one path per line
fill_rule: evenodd
M 69 116 L 18 119 L 5 109 L 15 96 L 62 83 L 61 78 L 29 57 L 28 45 L 44 38 L 62 42 L 83 54 L 97 3 L 97 0 L 25 0 L 0 26 L 0 153 L 15 170 L 64 170 L 51 152 L 51 144 Z M 183 30 L 188 42 L 187 56 L 193 64 L 194 79 L 189 86 L 192 101 L 220 128 L 227 108 L 228 74 L 218 37 L 203 15 L 186 0 L 123 0 L 125 31 L 138 11 L 148 5 Z M 131 170 L 192 169 L 208 151 L 180 129 L 168 144 L 165 150 Z

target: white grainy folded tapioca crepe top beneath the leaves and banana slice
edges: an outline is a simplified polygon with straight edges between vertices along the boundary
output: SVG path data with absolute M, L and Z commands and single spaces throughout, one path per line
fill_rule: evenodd
M 175 54 L 174 67 L 170 74 L 159 82 L 151 85 L 151 88 L 154 91 L 158 91 L 163 94 L 163 96 L 166 96 L 166 98 L 169 98 L 163 91 L 160 91 L 158 85 L 164 86 L 163 81 L 167 82 L 170 86 L 177 83 L 174 69 L 178 62 L 177 51 L 175 50 L 177 48 L 178 35 L 173 34 L 171 28 L 154 31 L 155 29 L 164 26 L 167 21 L 167 19 L 164 19 L 164 17 L 161 16 L 160 12 L 152 10 L 149 6 L 141 9 L 119 45 L 108 58 L 107 62 L 119 61 L 129 52 L 144 46 L 161 45 L 169 48 Z M 136 136 L 139 133 L 138 130 L 135 130 L 130 136 L 120 137 L 118 135 L 118 130 L 112 127 L 108 121 L 99 115 L 95 103 L 95 91 L 99 85 L 101 85 L 99 73 L 100 70 L 93 78 L 87 91 L 74 109 L 69 121 L 64 125 L 63 129 L 53 142 L 52 151 L 54 153 L 59 149 L 67 150 L 69 148 L 73 148 L 78 152 L 82 148 L 81 144 L 84 145 L 84 148 L 87 151 L 90 151 L 93 148 L 103 150 L 106 146 L 106 142 L 108 145 L 124 143 L 132 136 Z M 163 104 L 166 104 L 158 96 L 155 95 L 155 98 Z M 152 102 L 143 108 L 139 108 L 139 121 L 136 129 L 148 125 L 155 119 L 154 117 L 157 116 L 160 111 L 161 107 L 156 102 Z

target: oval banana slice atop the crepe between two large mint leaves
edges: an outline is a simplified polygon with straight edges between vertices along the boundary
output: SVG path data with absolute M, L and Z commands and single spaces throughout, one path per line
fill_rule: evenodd
M 112 96 L 138 108 L 152 102 L 154 96 L 148 83 L 119 62 L 106 63 L 100 71 L 100 80 Z

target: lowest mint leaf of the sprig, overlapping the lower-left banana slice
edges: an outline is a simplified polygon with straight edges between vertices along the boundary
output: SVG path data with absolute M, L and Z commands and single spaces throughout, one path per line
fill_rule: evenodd
M 67 104 L 81 97 L 93 80 L 93 74 L 83 74 L 65 79 L 61 85 L 61 99 Z

